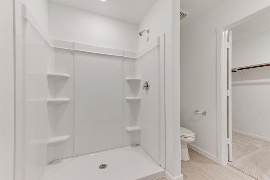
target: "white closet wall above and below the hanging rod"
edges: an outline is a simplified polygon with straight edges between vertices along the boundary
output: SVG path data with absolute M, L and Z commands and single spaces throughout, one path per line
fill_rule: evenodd
M 232 32 L 233 33 L 233 32 Z M 270 32 L 232 43 L 233 67 L 269 63 Z M 259 67 L 232 72 L 232 129 L 270 139 L 270 68 Z M 261 82 L 267 80 L 268 82 Z M 251 82 L 253 83 L 248 83 Z M 246 84 L 245 84 L 246 83 Z

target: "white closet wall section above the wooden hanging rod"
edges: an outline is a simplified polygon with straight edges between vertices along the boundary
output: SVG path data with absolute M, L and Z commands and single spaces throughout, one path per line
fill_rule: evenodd
M 270 31 L 233 42 L 232 68 L 268 63 L 269 41 Z

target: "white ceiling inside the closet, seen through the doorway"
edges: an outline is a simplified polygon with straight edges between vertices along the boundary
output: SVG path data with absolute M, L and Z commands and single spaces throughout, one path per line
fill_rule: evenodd
M 270 12 L 248 19 L 232 28 L 232 41 L 249 38 L 270 31 Z

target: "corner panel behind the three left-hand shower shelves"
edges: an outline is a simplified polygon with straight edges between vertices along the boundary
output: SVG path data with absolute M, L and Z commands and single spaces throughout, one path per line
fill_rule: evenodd
M 73 155 L 74 146 L 74 53 L 72 50 L 52 48 L 48 73 L 68 74 L 67 79 L 48 77 L 50 98 L 69 98 L 69 102 L 57 106 L 48 105 L 48 138 L 69 136 L 62 143 L 48 146 L 48 162 Z

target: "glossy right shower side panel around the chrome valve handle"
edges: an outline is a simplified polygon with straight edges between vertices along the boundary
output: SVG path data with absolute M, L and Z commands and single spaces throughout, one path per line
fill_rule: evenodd
M 141 97 L 137 122 L 141 128 L 140 145 L 165 168 L 164 44 L 146 52 L 136 63 L 141 87 L 145 81 L 150 82 L 149 90 L 140 88 L 138 94 Z

